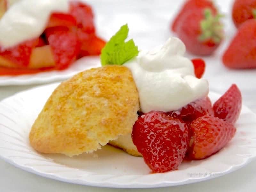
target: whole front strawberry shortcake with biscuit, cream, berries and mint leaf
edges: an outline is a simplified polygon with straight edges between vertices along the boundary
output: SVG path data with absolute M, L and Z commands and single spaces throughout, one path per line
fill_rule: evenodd
M 31 146 L 75 156 L 111 144 L 142 156 L 156 173 L 225 147 L 242 106 L 237 86 L 212 107 L 208 81 L 200 78 L 204 62 L 185 58 L 180 39 L 139 52 L 127 36 L 124 25 L 102 49 L 102 67 L 55 89 L 31 128 Z

